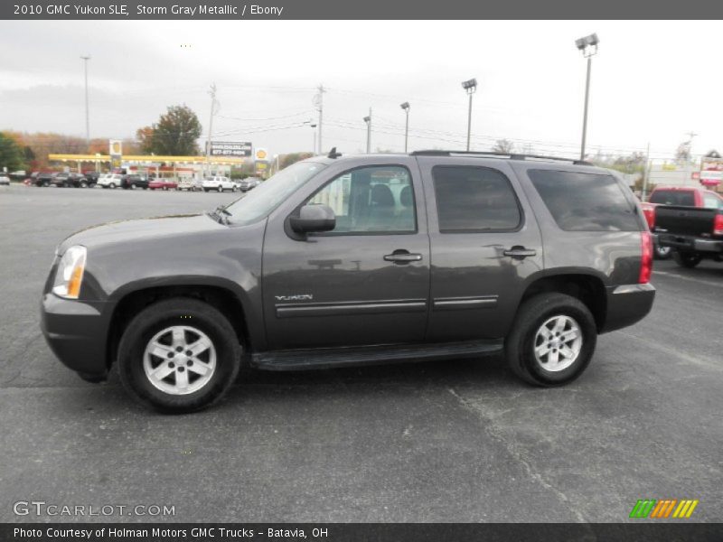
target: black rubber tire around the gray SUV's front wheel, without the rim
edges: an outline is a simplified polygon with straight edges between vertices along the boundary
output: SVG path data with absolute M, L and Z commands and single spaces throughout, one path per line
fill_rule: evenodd
M 211 378 L 192 393 L 166 393 L 146 376 L 146 345 L 169 326 L 200 330 L 216 350 L 216 368 Z M 123 333 L 117 351 L 118 373 L 127 391 L 142 404 L 169 414 L 194 412 L 218 401 L 236 380 L 240 357 L 239 339 L 226 317 L 210 304 L 183 297 L 160 301 L 138 313 Z M 175 378 L 176 371 L 184 370 L 179 367 L 169 377 Z

